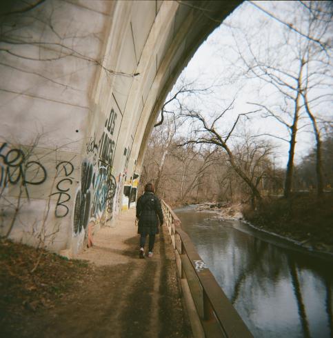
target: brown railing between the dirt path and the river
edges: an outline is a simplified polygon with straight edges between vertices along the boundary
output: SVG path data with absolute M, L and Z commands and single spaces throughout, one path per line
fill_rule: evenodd
M 165 201 L 162 201 L 162 209 L 194 337 L 253 338 L 181 228 L 179 218 Z

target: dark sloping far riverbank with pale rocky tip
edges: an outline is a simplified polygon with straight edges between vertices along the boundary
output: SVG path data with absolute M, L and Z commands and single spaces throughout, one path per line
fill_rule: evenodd
M 202 203 L 196 210 L 214 210 L 221 219 L 242 219 L 308 250 L 333 253 L 333 194 L 267 199 L 256 210 L 243 203 Z

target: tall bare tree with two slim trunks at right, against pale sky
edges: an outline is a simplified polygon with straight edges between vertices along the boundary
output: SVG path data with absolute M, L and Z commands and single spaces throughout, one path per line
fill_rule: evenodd
M 323 193 L 321 135 L 318 126 L 320 114 L 314 113 L 314 110 L 323 109 L 323 103 L 332 97 L 330 92 L 322 90 L 325 86 L 332 84 L 332 66 L 330 65 L 332 46 L 327 40 L 330 36 L 330 28 L 332 28 L 332 21 L 330 21 L 332 6 L 323 2 L 325 1 L 292 3 L 293 25 L 286 24 L 251 2 L 256 8 L 283 23 L 281 34 L 279 34 L 281 37 L 276 37 L 277 42 L 273 44 L 265 39 L 252 41 L 245 37 L 246 33 L 243 32 L 246 48 L 241 48 L 239 43 L 236 44 L 243 74 L 251 79 L 261 79 L 266 86 L 276 90 L 280 97 L 280 103 L 276 105 L 272 102 L 255 104 L 265 108 L 265 117 L 273 117 L 282 123 L 290 134 L 285 197 L 289 197 L 292 191 L 296 135 L 301 128 L 307 126 L 305 122 L 299 125 L 302 115 L 310 118 L 314 130 L 317 147 L 317 192 L 319 196 Z M 234 37 L 238 39 L 239 35 L 234 34 Z M 260 48 L 257 47 L 258 43 L 261 44 Z M 264 44 L 269 49 L 262 52 Z M 279 135 L 271 136 L 279 137 Z

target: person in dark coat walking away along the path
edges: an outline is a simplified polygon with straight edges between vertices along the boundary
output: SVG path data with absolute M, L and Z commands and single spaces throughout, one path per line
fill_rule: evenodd
M 161 201 L 154 195 L 152 183 L 145 185 L 145 193 L 137 201 L 138 234 L 140 234 L 139 257 L 145 257 L 145 240 L 149 235 L 148 257 L 152 257 L 155 235 L 159 233 L 159 222 L 163 224 Z

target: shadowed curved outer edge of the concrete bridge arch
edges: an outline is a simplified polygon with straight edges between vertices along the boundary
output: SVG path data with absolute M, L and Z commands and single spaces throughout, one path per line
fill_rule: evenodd
M 158 94 L 152 93 L 154 106 L 150 107 L 150 116 L 145 122 L 145 132 L 137 135 L 136 144 L 140 144 L 137 159 L 137 169 L 140 171 L 145 155 L 145 148 L 150 136 L 150 132 L 165 101 L 165 97 L 170 92 L 179 74 L 187 66 L 194 52 L 201 46 L 201 43 L 208 35 L 219 26 L 225 17 L 236 8 L 242 1 L 188 1 L 181 5 L 178 10 L 182 12 L 179 16 L 184 17 L 178 23 L 178 30 L 174 34 L 168 52 L 163 57 L 163 62 L 152 85 L 152 92 L 157 89 Z M 183 1 L 185 3 L 185 1 Z M 176 17 L 174 18 L 176 21 Z M 174 22 L 174 24 L 176 24 Z M 169 74 L 167 79 L 163 79 L 165 74 Z

